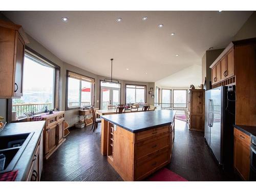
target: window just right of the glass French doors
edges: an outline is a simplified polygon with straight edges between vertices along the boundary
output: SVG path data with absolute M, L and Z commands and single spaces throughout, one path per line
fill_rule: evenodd
M 146 86 L 126 84 L 126 103 L 146 102 Z

